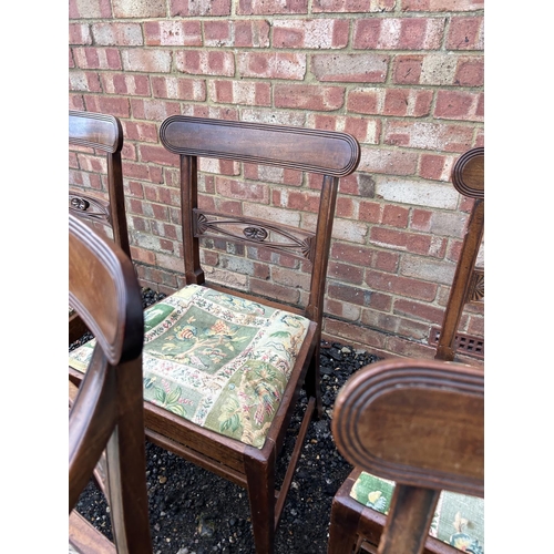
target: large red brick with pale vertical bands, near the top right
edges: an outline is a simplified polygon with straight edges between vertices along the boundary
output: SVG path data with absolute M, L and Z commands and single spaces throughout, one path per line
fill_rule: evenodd
M 444 18 L 359 19 L 352 45 L 362 50 L 437 50 L 443 29 Z

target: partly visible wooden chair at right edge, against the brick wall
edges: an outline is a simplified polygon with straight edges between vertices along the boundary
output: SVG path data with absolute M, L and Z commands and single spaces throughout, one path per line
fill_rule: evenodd
M 484 148 L 472 148 L 458 160 L 452 171 L 452 183 L 460 194 L 475 202 L 465 228 L 444 318 L 441 328 L 434 331 L 438 335 L 435 359 L 445 361 L 454 360 L 461 342 L 464 342 L 464 351 L 484 356 L 482 341 L 456 334 L 465 305 L 484 301 L 484 269 L 475 267 L 484 232 Z

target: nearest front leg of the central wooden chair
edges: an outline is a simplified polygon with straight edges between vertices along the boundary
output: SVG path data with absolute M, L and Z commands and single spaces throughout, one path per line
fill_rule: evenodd
M 273 554 L 275 543 L 275 445 L 267 456 L 265 450 L 254 452 L 245 464 L 257 554 Z

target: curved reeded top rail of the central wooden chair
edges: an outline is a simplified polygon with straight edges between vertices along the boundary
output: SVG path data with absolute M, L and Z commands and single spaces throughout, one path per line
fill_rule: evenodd
M 264 123 L 173 115 L 160 129 L 175 154 L 279 165 L 335 177 L 351 174 L 360 158 L 347 133 Z

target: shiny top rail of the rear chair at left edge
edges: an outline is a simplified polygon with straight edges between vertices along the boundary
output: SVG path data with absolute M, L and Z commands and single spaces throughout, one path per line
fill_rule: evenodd
M 123 129 L 113 115 L 70 110 L 69 142 L 115 154 L 123 147 Z

